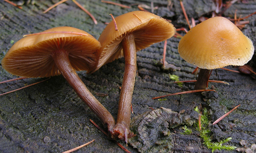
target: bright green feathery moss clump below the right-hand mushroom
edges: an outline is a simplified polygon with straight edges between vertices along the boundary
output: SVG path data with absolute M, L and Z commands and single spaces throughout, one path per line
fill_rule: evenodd
M 199 112 L 199 109 L 196 107 L 195 111 Z M 195 124 L 196 130 L 200 132 L 200 137 L 204 140 L 203 144 L 205 144 L 207 146 L 207 148 L 212 149 L 212 152 L 214 152 L 215 150 L 219 149 L 225 149 L 225 150 L 234 150 L 236 149 L 235 146 L 230 146 L 230 145 L 223 145 L 223 143 L 229 142 L 232 138 L 227 138 L 224 140 L 221 140 L 220 142 L 211 142 L 211 136 L 210 133 L 211 131 L 207 128 L 209 123 L 209 117 L 207 114 L 207 109 L 204 108 L 202 116 L 201 116 L 201 129 L 199 129 L 199 124 L 198 122 Z

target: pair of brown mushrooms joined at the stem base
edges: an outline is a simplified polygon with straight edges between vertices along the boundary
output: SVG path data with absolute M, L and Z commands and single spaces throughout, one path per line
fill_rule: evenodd
M 11 74 L 23 77 L 62 74 L 77 95 L 107 125 L 111 138 L 118 137 L 127 142 L 136 52 L 172 37 L 175 28 L 165 19 L 144 11 L 123 14 L 116 17 L 116 21 L 116 25 L 113 21 L 107 25 L 99 41 L 73 27 L 56 27 L 26 36 L 7 52 L 2 66 Z M 124 57 L 125 70 L 115 124 L 112 115 L 90 93 L 76 71 L 92 73 L 118 57 Z

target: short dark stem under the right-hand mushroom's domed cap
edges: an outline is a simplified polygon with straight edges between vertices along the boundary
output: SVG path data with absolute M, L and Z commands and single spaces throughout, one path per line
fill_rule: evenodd
M 194 90 L 203 90 L 208 87 L 208 80 L 211 70 L 200 69 Z

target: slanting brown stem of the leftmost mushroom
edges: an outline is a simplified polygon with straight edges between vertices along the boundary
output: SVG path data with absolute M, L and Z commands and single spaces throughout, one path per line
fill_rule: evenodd
M 115 120 L 108 110 L 91 94 L 86 88 L 83 81 L 79 78 L 76 71 L 72 67 L 68 52 L 65 50 L 56 50 L 52 52 L 52 58 L 60 73 L 68 81 L 69 85 L 75 90 L 76 94 L 84 101 L 84 103 L 97 115 L 103 125 L 107 125 L 108 133 L 113 129 Z

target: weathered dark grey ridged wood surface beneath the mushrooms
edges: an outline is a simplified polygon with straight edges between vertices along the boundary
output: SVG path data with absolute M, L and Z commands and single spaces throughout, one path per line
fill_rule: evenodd
M 131 5 L 131 8 L 127 9 L 102 3 L 100 0 L 80 0 L 79 3 L 97 19 L 98 24 L 95 25 L 92 19 L 71 0 L 43 13 L 56 2 L 56 0 L 32 1 L 30 4 L 23 5 L 23 9 L 19 9 L 1 1 L 0 60 L 11 48 L 12 42 L 17 42 L 24 34 L 41 32 L 52 27 L 70 26 L 82 29 L 98 39 L 106 27 L 105 22 L 112 20 L 109 13 L 116 17 L 129 11 L 138 10 L 137 4 L 151 5 L 150 0 L 115 1 Z M 172 20 L 172 24 L 176 28 L 188 29 L 179 0 L 170 1 L 172 2 L 170 10 L 167 9 L 168 2 L 165 0 L 153 2 L 154 6 L 157 6 L 157 9 L 154 10 L 155 14 Z M 201 16 L 210 17 L 211 12 L 216 9 L 215 4 L 209 0 L 184 0 L 183 3 L 189 19 L 191 17 L 198 19 Z M 235 10 L 237 10 L 237 17 L 240 15 L 245 17 L 256 10 L 256 3 L 252 0 L 244 3 L 236 2 L 224 12 L 223 16 L 234 18 Z M 256 15 L 245 20 L 250 23 L 245 25 L 242 32 L 252 40 L 256 47 Z M 146 111 L 152 111 L 149 107 L 153 109 L 164 107 L 175 112 L 185 110 L 184 113 L 187 114 L 193 112 L 196 106 L 206 107 L 210 115 L 209 129 L 212 131 L 211 139 L 213 141 L 232 137 L 232 140 L 225 144 L 237 148 L 250 148 L 253 143 L 256 143 L 256 108 L 252 107 L 252 105 L 256 105 L 256 100 L 253 100 L 251 105 L 247 105 L 256 96 L 256 80 L 250 75 L 216 69 L 212 71 L 210 79 L 229 83 L 229 85 L 209 83 L 210 87 L 213 85 L 216 88 L 217 93 L 168 96 L 166 100 L 162 101 L 152 99 L 156 96 L 192 90 L 194 87 L 194 83 L 185 83 L 179 87 L 169 78 L 169 74 L 175 74 L 179 76 L 180 80 L 196 79 L 196 76 L 191 74 L 196 66 L 188 64 L 179 56 L 179 41 L 180 38 L 175 37 L 168 39 L 166 61 L 179 67 L 180 70 L 164 71 L 161 66 L 157 65 L 163 58 L 164 42 L 156 43 L 137 52 L 138 73 L 132 98 L 134 113 L 131 118 L 133 119 Z M 255 70 L 255 55 L 249 63 L 254 66 Z M 237 67 L 232 66 L 227 66 L 227 68 L 238 70 Z M 92 74 L 86 74 L 84 71 L 78 72 L 79 77 L 92 94 L 115 119 L 123 73 L 124 58 L 103 65 Z M 13 78 L 17 78 L 17 76 L 9 74 L 0 66 L 0 81 Z M 0 84 L 0 94 L 44 79 L 28 78 Z M 107 96 L 97 96 L 102 94 L 107 94 Z M 236 111 L 217 125 L 212 126 L 213 121 L 239 103 L 241 106 Z M 106 135 L 93 126 L 89 119 L 102 127 L 100 120 L 82 102 L 62 76 L 51 77 L 40 84 L 0 96 L 0 146 L 2 146 L 0 152 L 63 152 L 93 139 L 95 139 L 94 142 L 76 152 L 124 152 L 115 142 L 109 140 Z M 198 132 L 193 130 L 193 126 L 188 126 L 192 128 L 191 135 L 181 134 L 183 126 L 181 124 L 169 128 L 172 136 L 170 143 L 172 144 L 168 146 L 171 147 L 168 151 L 167 149 L 163 150 L 165 146 L 158 143 L 153 144 L 151 150 L 156 150 L 155 147 L 158 147 L 162 149 L 162 152 L 212 152 L 205 147 Z M 125 146 L 124 142 L 120 143 Z M 125 148 L 133 153 L 138 152 L 138 149 L 134 149 L 131 145 Z M 221 150 L 216 152 L 235 153 L 237 151 Z

